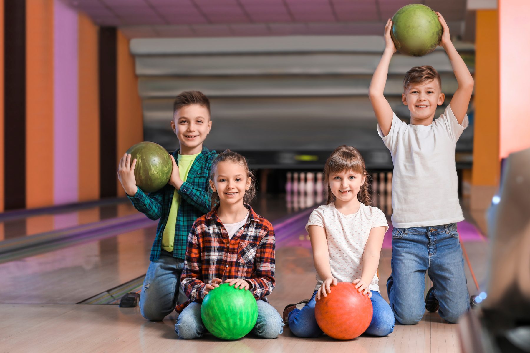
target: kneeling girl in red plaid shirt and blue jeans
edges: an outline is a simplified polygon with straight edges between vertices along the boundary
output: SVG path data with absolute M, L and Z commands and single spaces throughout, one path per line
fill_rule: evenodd
M 256 298 L 258 320 L 252 333 L 276 338 L 284 324 L 266 298 L 275 285 L 274 230 L 247 204 L 255 189 L 245 158 L 230 150 L 220 153 L 211 165 L 210 187 L 212 211 L 197 219 L 188 237 L 181 279 L 189 301 L 177 307 L 182 312 L 175 332 L 185 339 L 201 337 L 206 332 L 201 302 L 225 282 Z

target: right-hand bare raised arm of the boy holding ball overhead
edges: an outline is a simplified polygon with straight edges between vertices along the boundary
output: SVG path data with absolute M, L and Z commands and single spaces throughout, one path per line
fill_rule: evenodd
M 451 36 L 449 35 L 449 28 L 445 23 L 444 17 L 439 12 L 438 19 L 440 20 L 441 26 L 444 28 L 444 34 L 441 36 L 440 46 L 443 47 L 451 61 L 451 66 L 458 82 L 458 89 L 451 99 L 451 110 L 455 114 L 456 121 L 458 124 L 462 124 L 464 121 L 465 113 L 467 112 L 467 106 L 473 93 L 473 77 L 471 76 L 464 60 L 460 57 L 458 52 L 451 42 Z

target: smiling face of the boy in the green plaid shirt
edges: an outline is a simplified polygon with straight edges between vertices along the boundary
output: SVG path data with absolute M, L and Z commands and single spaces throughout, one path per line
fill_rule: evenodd
M 181 149 L 201 147 L 211 129 L 208 109 L 198 104 L 181 107 L 173 115 L 171 128 L 180 141 Z

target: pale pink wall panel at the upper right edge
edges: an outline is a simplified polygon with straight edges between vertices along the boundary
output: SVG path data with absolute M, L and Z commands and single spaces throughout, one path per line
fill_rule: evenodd
M 500 157 L 530 147 L 530 1 L 499 0 Z

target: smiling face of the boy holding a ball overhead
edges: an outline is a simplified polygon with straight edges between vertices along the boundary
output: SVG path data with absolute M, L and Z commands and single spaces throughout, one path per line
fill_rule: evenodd
M 412 125 L 429 125 L 434 119 L 436 107 L 444 103 L 445 95 L 441 93 L 438 80 L 429 80 L 411 83 L 405 88 L 401 99 L 409 107 Z

